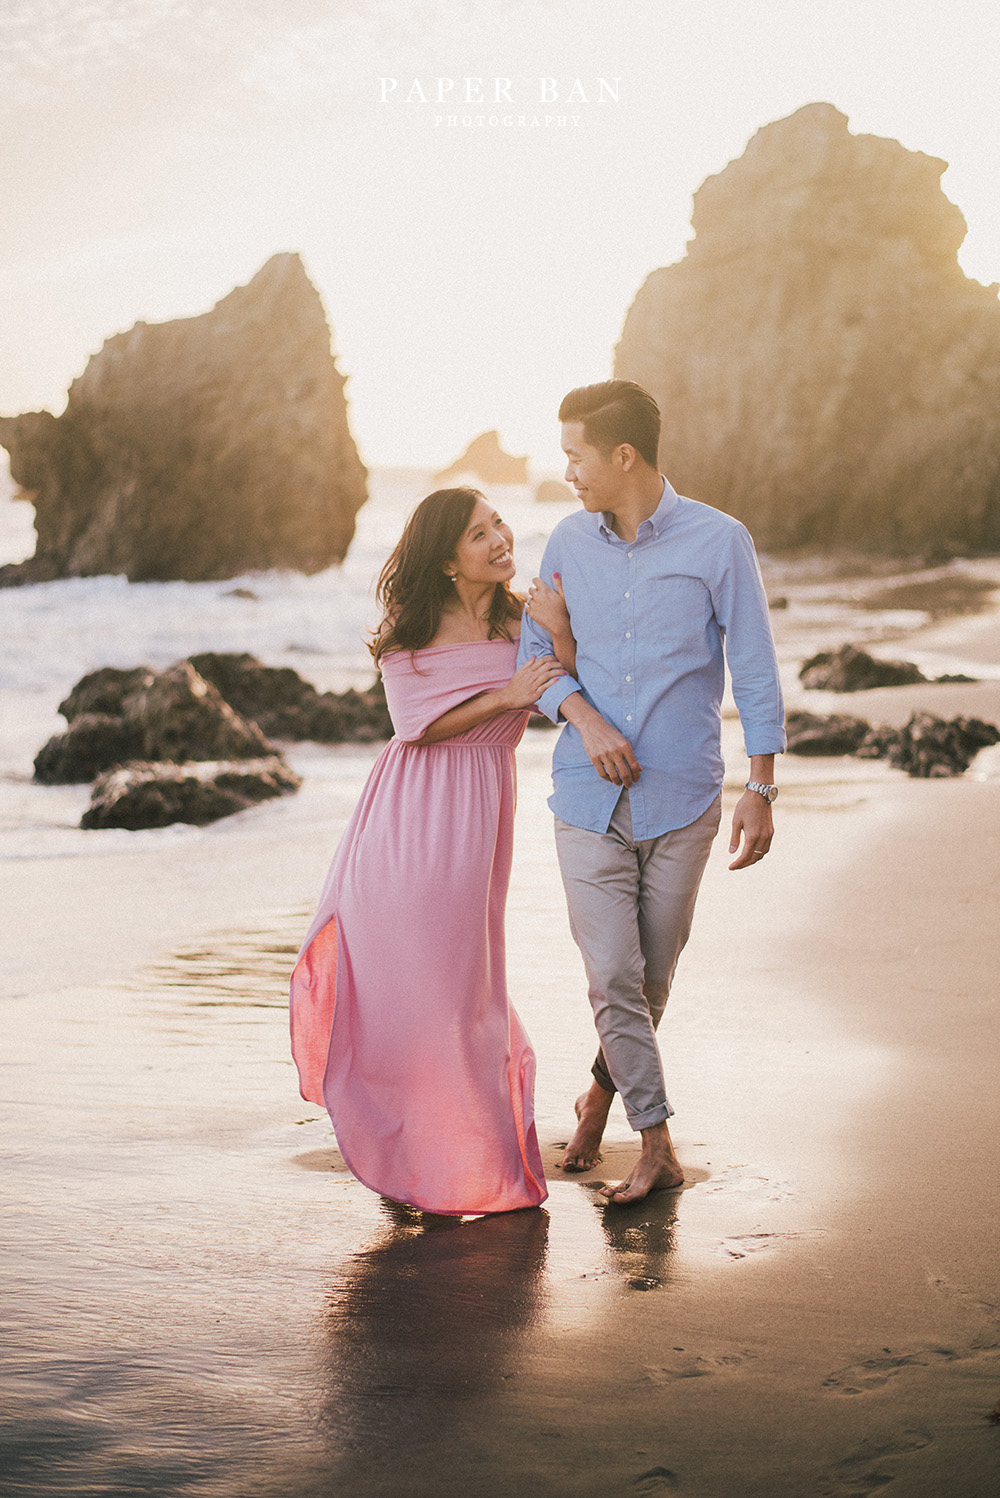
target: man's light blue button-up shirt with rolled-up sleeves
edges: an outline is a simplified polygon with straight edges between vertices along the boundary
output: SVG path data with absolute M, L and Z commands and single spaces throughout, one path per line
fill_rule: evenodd
M 558 722 L 560 704 L 579 691 L 635 749 L 642 767 L 629 791 L 636 840 L 687 827 L 722 788 L 725 659 L 747 755 L 784 749 L 784 706 L 768 601 L 753 541 L 732 515 L 663 497 L 635 541 L 609 517 L 578 511 L 552 532 L 542 578 L 563 580 L 576 637 L 576 677 L 540 697 Z M 551 638 L 525 614 L 518 664 L 548 655 Z M 602 780 L 572 724 L 552 756 L 549 806 L 564 822 L 605 833 L 621 788 Z

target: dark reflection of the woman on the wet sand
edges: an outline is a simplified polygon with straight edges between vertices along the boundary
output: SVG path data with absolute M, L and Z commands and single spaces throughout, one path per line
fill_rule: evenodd
M 355 1494 L 392 1491 L 394 1473 L 434 1452 L 469 1458 L 488 1434 L 484 1402 L 513 1389 L 545 1315 L 545 1210 L 466 1221 L 383 1203 L 383 1213 L 325 1320 L 323 1425 L 335 1476 Z

